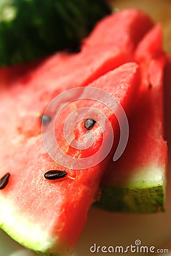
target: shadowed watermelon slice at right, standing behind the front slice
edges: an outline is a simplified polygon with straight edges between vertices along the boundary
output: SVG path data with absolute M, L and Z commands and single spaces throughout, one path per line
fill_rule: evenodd
M 130 138 L 105 175 L 101 207 L 119 212 L 153 213 L 164 208 L 167 146 L 163 139 L 163 81 L 168 57 L 161 27 L 147 33 L 135 51 L 142 82 L 136 108 L 129 117 Z

